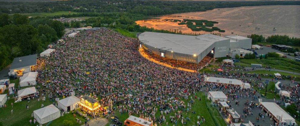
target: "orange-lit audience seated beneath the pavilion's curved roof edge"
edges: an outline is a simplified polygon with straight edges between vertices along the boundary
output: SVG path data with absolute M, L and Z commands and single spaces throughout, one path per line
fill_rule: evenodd
M 162 57 L 154 53 L 149 54 L 147 51 L 143 51 L 143 53 L 146 53 L 149 58 L 153 58 L 162 63 L 169 64 L 172 67 L 176 67 L 176 68 L 181 67 L 181 68 L 186 68 L 186 69 L 196 70 L 196 71 L 208 65 L 212 60 L 211 57 L 205 56 L 199 63 L 192 63 L 192 62 L 186 62 L 186 61 L 174 60 L 167 57 Z

